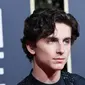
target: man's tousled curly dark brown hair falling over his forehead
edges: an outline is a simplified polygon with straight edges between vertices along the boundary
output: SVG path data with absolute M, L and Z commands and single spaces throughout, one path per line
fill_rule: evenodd
M 71 44 L 73 44 L 79 36 L 79 26 L 71 14 L 65 13 L 63 10 L 57 8 L 39 8 L 26 18 L 24 23 L 24 36 L 21 42 L 22 48 L 30 61 L 33 60 L 33 55 L 26 48 L 27 41 L 34 45 L 39 39 L 51 35 L 54 33 L 56 22 L 64 23 L 72 28 Z

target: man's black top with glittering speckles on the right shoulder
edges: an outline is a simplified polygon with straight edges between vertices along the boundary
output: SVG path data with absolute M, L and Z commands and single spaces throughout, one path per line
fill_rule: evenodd
M 30 72 L 29 76 L 27 76 L 24 80 L 22 80 L 17 85 L 85 85 L 85 78 L 77 75 L 70 74 L 68 72 L 62 72 L 61 78 L 58 82 L 54 84 L 46 84 L 37 80 Z

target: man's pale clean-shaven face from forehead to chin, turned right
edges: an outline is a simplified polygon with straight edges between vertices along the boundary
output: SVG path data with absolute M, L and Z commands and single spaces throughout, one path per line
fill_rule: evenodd
M 36 43 L 34 62 L 40 67 L 62 70 L 71 50 L 71 27 L 56 23 L 55 31 Z

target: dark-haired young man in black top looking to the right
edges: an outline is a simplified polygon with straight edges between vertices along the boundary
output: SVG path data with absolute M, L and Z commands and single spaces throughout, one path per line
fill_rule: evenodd
M 77 37 L 78 23 L 71 14 L 55 8 L 36 9 L 25 20 L 21 39 L 33 69 L 18 85 L 85 85 L 83 77 L 61 72 Z

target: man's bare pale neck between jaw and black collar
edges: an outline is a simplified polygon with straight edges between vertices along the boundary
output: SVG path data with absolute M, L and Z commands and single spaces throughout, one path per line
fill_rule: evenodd
M 43 69 L 40 68 L 35 62 L 33 67 L 33 76 L 44 83 L 52 84 L 56 83 L 60 79 L 61 71 L 60 70 L 53 70 L 53 69 Z

